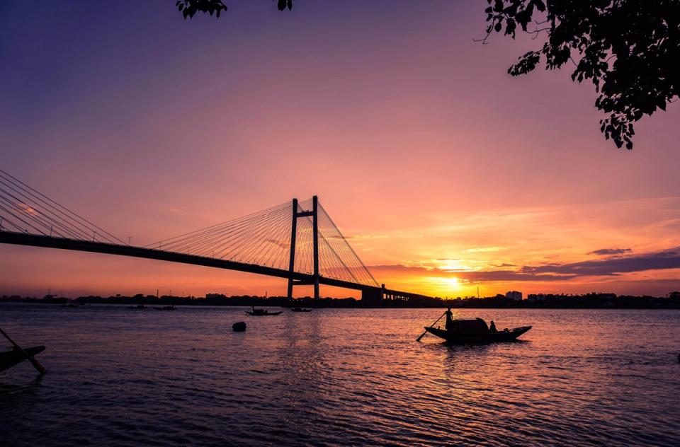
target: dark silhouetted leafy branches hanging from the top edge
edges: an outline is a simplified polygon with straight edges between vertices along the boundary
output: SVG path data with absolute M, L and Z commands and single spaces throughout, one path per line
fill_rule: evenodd
M 279 11 L 293 0 L 276 1 Z M 605 139 L 633 149 L 633 124 L 643 115 L 666 110 L 680 94 L 679 0 L 487 0 L 486 35 L 516 37 L 519 29 L 543 46 L 523 54 L 508 69 L 511 76 L 572 64 L 572 81 L 591 81 Z M 184 18 L 197 12 L 219 17 L 222 0 L 178 0 Z

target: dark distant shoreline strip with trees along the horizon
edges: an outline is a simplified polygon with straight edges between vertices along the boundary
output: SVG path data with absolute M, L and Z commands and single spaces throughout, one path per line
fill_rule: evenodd
M 240 306 L 240 307 L 307 307 L 307 308 L 505 308 L 505 309 L 680 309 L 680 293 L 666 298 L 655 296 L 617 296 L 614 294 L 548 295 L 539 300 L 513 300 L 501 296 L 489 298 L 418 298 L 411 300 L 383 300 L 375 306 L 366 306 L 356 298 L 304 297 L 289 300 L 285 296 L 225 296 L 209 294 L 193 296 L 79 296 L 75 299 L 47 295 L 43 298 L 29 296 L 0 296 L 0 303 L 39 304 L 118 304 L 124 306 Z

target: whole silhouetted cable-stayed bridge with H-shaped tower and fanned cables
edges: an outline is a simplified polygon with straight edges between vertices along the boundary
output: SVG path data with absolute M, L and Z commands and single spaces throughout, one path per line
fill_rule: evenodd
M 300 285 L 319 298 L 320 284 L 361 291 L 367 306 L 423 297 L 379 285 L 316 196 L 135 246 L 0 170 L 0 243 L 264 274 L 287 279 L 288 298 Z

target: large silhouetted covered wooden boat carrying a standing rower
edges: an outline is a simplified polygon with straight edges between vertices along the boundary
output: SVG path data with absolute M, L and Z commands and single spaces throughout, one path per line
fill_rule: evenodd
M 426 326 L 426 332 L 445 339 L 450 343 L 493 343 L 510 342 L 531 329 L 531 326 L 515 327 L 514 329 L 489 330 L 482 318 L 475 320 L 453 320 L 448 330 L 439 327 Z

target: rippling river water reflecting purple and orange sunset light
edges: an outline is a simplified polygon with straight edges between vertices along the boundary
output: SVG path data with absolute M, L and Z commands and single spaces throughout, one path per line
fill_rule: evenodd
M 680 445 L 679 310 L 455 313 L 533 329 L 450 346 L 415 341 L 436 309 L 0 304 L 50 370 L 0 373 L 0 444 Z

